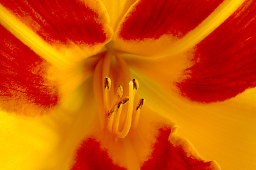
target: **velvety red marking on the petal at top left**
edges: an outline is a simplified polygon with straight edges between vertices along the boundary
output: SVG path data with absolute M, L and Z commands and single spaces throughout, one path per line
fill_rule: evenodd
M 94 45 L 104 42 L 106 35 L 99 16 L 85 2 L 75 0 L 1 0 L 44 40 L 50 43 L 86 43 Z

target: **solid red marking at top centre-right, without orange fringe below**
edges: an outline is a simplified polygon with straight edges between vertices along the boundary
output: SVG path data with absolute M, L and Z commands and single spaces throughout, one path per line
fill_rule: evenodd
M 196 28 L 223 0 L 140 0 L 122 24 L 125 40 L 157 39 L 171 34 L 181 38 Z

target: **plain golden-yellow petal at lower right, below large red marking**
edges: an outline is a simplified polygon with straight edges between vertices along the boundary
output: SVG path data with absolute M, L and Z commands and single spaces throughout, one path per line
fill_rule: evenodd
M 255 169 L 256 89 L 228 101 L 203 104 L 170 95 L 139 74 L 133 76 L 149 108 L 181 127 L 177 134 L 193 143 L 205 159 L 215 160 L 222 169 Z

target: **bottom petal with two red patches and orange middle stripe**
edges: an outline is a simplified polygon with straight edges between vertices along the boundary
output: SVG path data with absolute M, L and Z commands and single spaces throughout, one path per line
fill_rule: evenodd
M 148 108 L 142 109 L 137 130 L 124 139 L 114 139 L 99 127 L 100 125 L 96 125 L 96 131 L 92 133 L 92 137 L 82 142 L 73 170 L 105 169 L 106 167 L 106 169 L 148 169 L 148 166 L 151 166 L 151 169 L 158 169 L 157 167 L 188 169 L 191 166 L 195 166 L 194 169 L 198 167 L 218 169 L 216 164 L 211 166 L 209 166 L 210 163 L 203 164 L 203 159 L 198 156 L 196 150 L 174 135 L 176 131 L 174 124 Z M 163 149 L 170 149 L 171 154 L 164 153 Z M 156 155 L 157 153 L 161 155 Z M 166 164 L 161 164 L 159 159 Z M 183 159 L 186 161 L 176 162 Z M 170 166 L 174 162 L 176 164 Z

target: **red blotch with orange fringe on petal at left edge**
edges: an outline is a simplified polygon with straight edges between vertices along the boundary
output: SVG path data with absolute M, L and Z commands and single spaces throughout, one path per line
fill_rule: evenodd
M 4 27 L 0 31 L 1 109 L 26 115 L 48 111 L 60 98 L 53 67 Z

